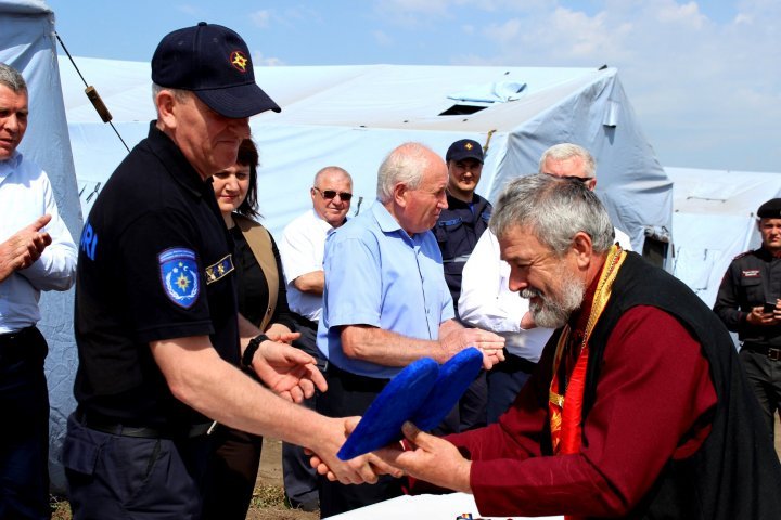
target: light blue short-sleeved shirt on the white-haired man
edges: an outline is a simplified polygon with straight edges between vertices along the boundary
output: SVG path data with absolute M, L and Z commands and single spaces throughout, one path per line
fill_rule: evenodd
M 323 264 L 317 344 L 343 370 L 392 378 L 401 368 L 347 358 L 341 326 L 370 325 L 436 340 L 439 325 L 453 317 L 436 238 L 430 231 L 410 237 L 379 202 L 329 236 Z

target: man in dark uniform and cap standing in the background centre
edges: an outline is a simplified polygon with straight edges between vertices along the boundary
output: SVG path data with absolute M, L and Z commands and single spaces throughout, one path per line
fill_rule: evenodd
M 450 289 L 459 320 L 458 300 L 461 296 L 461 274 L 477 239 L 488 227 L 491 205 L 475 193 L 483 172 L 483 146 L 477 141 L 462 139 L 450 145 L 445 154 L 448 167 L 448 207 L 439 213 L 434 234 L 443 253 L 445 281 Z M 446 418 L 438 433 L 465 431 L 487 421 L 488 386 L 481 372 L 461 398 L 458 407 Z

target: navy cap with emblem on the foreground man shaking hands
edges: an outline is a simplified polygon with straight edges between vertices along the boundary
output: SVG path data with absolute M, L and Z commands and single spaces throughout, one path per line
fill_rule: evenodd
M 152 56 L 152 81 L 190 90 L 225 117 L 280 112 L 255 83 L 252 57 L 242 37 L 221 25 L 201 22 L 166 35 Z

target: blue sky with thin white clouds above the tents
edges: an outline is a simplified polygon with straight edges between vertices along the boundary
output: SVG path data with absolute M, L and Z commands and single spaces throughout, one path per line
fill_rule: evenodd
M 778 0 L 47 3 L 74 56 L 149 61 L 206 21 L 241 34 L 256 66 L 609 64 L 662 165 L 781 172 Z

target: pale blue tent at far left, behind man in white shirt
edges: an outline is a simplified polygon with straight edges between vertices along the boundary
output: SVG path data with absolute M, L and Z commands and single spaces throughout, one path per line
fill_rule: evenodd
M 0 62 L 22 72 L 29 94 L 29 121 L 20 152 L 47 171 L 60 213 L 74 239 L 78 239 L 81 234 L 81 214 L 53 30 L 53 13 L 42 1 L 0 0 Z M 40 307 L 42 316 L 38 326 L 49 342 L 47 377 L 52 439 L 49 461 L 52 484 L 55 490 L 62 491 L 65 480 L 57 456 L 65 420 L 74 408 L 72 385 L 77 363 L 71 320 L 73 290 L 43 292 Z M 5 417 L 3 428 L 12 428 L 13 420 L 13 417 Z

